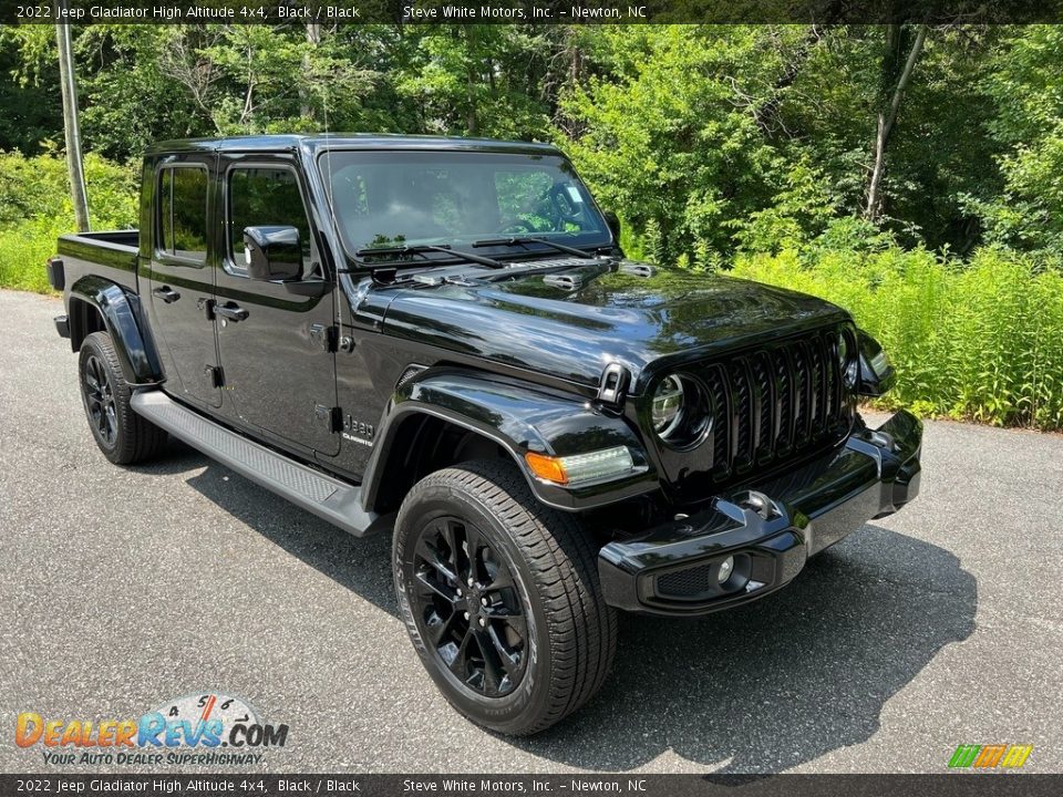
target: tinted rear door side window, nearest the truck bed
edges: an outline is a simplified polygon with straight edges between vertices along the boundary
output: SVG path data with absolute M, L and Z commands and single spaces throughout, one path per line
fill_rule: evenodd
M 163 255 L 207 260 L 207 170 L 165 168 L 158 179 L 158 241 Z

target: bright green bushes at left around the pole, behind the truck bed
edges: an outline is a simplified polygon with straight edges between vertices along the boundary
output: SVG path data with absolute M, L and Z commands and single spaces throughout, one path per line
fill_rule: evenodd
M 93 229 L 136 226 L 136 178 L 131 165 L 95 154 L 85 157 Z M 74 228 L 62 156 L 48 153 L 28 158 L 20 153 L 0 153 L 0 288 L 50 291 L 44 261 L 55 253 L 55 239 Z

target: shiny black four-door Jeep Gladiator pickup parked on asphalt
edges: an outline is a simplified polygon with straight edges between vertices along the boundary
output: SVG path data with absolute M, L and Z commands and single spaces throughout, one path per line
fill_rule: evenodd
M 921 424 L 865 425 L 894 372 L 848 313 L 632 262 L 618 228 L 545 144 L 180 141 L 138 231 L 48 270 L 107 459 L 173 435 L 392 532 L 432 679 L 529 734 L 601 686 L 618 610 L 755 600 L 918 491 Z

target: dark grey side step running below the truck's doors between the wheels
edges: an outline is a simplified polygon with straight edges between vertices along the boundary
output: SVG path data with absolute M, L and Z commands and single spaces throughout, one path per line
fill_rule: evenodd
M 251 482 L 355 537 L 386 526 L 391 516 L 362 508 L 361 490 L 230 432 L 162 391 L 136 393 L 134 412 Z

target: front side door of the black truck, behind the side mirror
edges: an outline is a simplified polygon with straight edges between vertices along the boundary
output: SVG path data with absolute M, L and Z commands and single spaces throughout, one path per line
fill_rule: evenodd
M 334 286 L 299 172 L 287 156 L 224 154 L 219 177 L 225 213 L 215 298 L 218 308 L 245 311 L 239 321 L 217 320 L 223 413 L 297 453 L 334 455 L 340 448 L 332 428 Z M 269 225 L 298 228 L 303 248 L 299 280 L 248 278 L 244 229 Z

